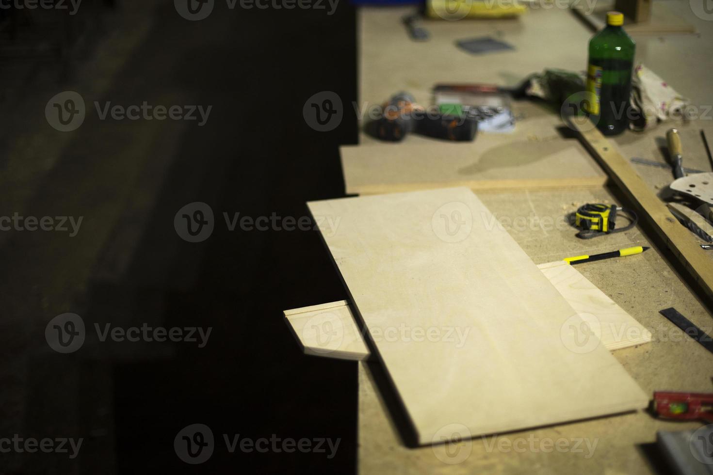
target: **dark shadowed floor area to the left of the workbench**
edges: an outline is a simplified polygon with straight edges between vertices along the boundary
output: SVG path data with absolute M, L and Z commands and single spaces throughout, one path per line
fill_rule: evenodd
M 328 7 L 328 6 L 327 6 Z M 0 454 L 0 474 L 351 473 L 356 365 L 302 355 L 282 310 L 345 298 L 316 231 L 228 231 L 222 213 L 309 216 L 344 196 L 339 145 L 356 143 L 354 7 L 228 10 L 187 21 L 170 0 L 84 0 L 78 14 L 0 18 L 0 216 L 83 216 L 76 237 L 0 232 L 0 437 L 83 437 L 66 454 Z M 76 90 L 87 118 L 48 125 Z M 312 130 L 302 107 L 331 90 L 344 120 Z M 99 120 L 93 100 L 212 105 L 195 122 Z M 180 239 L 190 202 L 215 213 L 206 241 Z M 53 352 L 51 318 L 87 327 L 212 327 L 190 343 L 100 343 Z M 210 460 L 173 449 L 188 424 L 216 438 Z M 222 434 L 341 439 L 337 456 L 230 454 Z

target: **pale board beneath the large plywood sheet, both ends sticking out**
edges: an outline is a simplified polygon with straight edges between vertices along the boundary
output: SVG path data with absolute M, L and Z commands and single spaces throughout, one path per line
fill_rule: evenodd
M 619 350 L 651 341 L 651 332 L 564 261 L 540 264 L 540 271 L 560 295 L 593 328 L 607 350 Z M 370 357 L 349 302 L 284 310 L 289 328 L 305 355 L 340 360 Z

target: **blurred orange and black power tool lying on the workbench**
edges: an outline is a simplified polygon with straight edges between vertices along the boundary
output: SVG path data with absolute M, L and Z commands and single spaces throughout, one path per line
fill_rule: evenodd
M 478 120 L 467 113 L 427 110 L 409 93 L 398 93 L 384 104 L 381 118 L 373 127 L 373 135 L 389 142 L 404 140 L 411 132 L 458 142 L 476 137 Z

